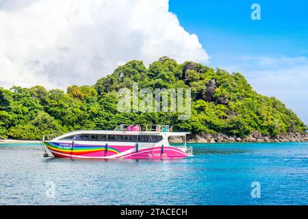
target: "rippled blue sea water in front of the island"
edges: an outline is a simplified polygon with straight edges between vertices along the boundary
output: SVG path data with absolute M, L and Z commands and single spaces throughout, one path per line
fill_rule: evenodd
M 192 144 L 172 161 L 44 158 L 0 144 L 0 205 L 307 205 L 308 143 Z M 251 197 L 251 183 L 261 198 Z M 46 195 L 55 185 L 55 197 Z M 49 184 L 50 185 L 50 184 Z

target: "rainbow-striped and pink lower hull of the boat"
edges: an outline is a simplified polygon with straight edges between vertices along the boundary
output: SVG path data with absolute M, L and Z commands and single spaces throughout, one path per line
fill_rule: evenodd
M 181 159 L 192 157 L 173 146 L 118 146 L 44 142 L 55 157 L 75 159 Z

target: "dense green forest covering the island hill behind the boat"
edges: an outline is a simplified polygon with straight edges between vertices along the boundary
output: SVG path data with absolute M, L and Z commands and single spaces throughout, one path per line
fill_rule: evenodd
M 130 88 L 191 88 L 192 115 L 118 112 L 118 90 Z M 41 139 L 78 129 L 114 129 L 119 124 L 172 125 L 175 131 L 224 133 L 244 137 L 254 130 L 264 136 L 303 133 L 307 126 L 274 97 L 262 96 L 240 73 L 229 74 L 194 62 L 177 64 L 161 57 L 144 66 L 133 60 L 93 86 L 69 86 L 67 92 L 42 86 L 0 88 L 0 137 Z

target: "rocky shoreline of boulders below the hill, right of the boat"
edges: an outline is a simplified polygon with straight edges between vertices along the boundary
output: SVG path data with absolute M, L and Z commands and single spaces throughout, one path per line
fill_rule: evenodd
M 188 136 L 190 143 L 224 143 L 224 142 L 308 142 L 308 133 L 288 133 L 287 135 L 262 136 L 258 131 L 253 131 L 246 138 L 238 136 L 226 136 L 222 133 L 211 135 L 209 133 L 198 133 Z

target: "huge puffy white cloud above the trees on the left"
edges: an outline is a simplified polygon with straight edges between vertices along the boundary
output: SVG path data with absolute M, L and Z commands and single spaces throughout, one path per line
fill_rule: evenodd
M 0 86 L 92 84 L 129 60 L 207 62 L 168 0 L 0 0 Z

